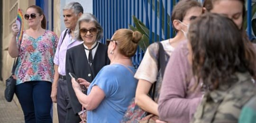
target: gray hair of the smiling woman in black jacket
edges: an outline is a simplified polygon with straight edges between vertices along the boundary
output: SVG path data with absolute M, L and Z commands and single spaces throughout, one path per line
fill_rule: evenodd
M 101 40 L 101 38 L 103 37 L 103 29 L 101 27 L 101 24 L 98 22 L 97 18 L 94 15 L 92 15 L 91 13 L 84 13 L 78 19 L 76 26 L 75 26 L 75 31 L 74 31 L 75 39 L 82 41 L 82 37 L 79 32 L 81 22 L 87 22 L 87 23 L 93 22 L 95 24 L 96 28 L 98 29 L 96 41 Z

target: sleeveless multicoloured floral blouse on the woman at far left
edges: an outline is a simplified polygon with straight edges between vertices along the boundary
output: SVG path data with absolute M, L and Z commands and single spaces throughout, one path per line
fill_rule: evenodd
M 15 70 L 16 85 L 26 81 L 49 81 L 54 78 L 54 54 L 58 44 L 57 35 L 46 30 L 37 39 L 23 31 L 23 38 Z M 19 45 L 19 43 L 17 43 Z

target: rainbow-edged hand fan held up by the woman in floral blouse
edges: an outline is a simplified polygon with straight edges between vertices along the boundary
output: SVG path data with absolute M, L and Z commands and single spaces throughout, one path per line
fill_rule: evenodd
M 23 22 L 24 22 L 24 18 L 23 18 L 22 10 L 18 9 L 18 16 L 17 16 L 17 20 L 16 20 L 16 24 L 19 29 L 18 35 L 17 35 L 18 43 L 21 42 L 22 36 L 23 36 L 23 26 L 24 26 Z

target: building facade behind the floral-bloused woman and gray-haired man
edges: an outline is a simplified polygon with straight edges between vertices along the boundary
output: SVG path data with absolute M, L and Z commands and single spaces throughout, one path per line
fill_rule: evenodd
M 46 28 L 55 32 L 60 36 L 65 29 L 63 19 L 63 7 L 65 4 L 77 1 L 82 4 L 84 12 L 92 13 L 92 0 L 1 0 L 2 16 L 0 17 L 0 80 L 3 82 L 9 78 L 11 73 L 14 58 L 11 58 L 8 53 L 9 41 L 12 36 L 11 26 L 17 19 L 18 9 L 22 9 L 23 16 L 26 13 L 27 7 L 31 5 L 40 6 L 46 16 Z M 86 1 L 86 2 L 84 2 Z M 27 20 L 24 21 L 24 30 L 28 28 Z M 15 96 L 14 100 L 17 105 L 18 99 Z M 20 107 L 20 106 L 19 106 Z M 20 107 L 21 108 L 21 107 Z M 53 105 L 54 123 L 58 123 L 56 114 L 56 105 Z

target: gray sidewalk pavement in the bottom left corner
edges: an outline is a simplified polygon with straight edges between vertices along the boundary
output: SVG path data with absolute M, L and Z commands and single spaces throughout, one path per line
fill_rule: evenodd
M 25 123 L 18 100 L 7 102 L 4 98 L 5 84 L 0 81 L 0 123 Z

